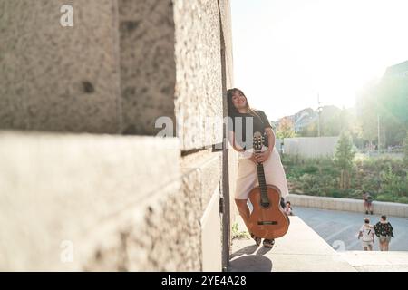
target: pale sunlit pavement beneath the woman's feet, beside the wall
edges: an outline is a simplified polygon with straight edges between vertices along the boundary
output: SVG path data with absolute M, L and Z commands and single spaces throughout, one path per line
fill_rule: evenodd
M 240 216 L 238 230 L 246 230 Z M 355 272 L 325 240 L 298 217 L 290 217 L 287 235 L 277 238 L 270 249 L 253 239 L 234 239 L 230 272 Z

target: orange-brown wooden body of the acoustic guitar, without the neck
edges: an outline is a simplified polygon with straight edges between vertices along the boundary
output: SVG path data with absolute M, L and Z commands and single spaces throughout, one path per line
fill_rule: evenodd
M 249 192 L 249 200 L 254 207 L 249 216 L 250 231 L 257 237 L 269 239 L 283 237 L 287 234 L 290 220 L 280 206 L 280 190 L 273 185 L 266 187 L 268 207 L 262 206 L 259 187 Z

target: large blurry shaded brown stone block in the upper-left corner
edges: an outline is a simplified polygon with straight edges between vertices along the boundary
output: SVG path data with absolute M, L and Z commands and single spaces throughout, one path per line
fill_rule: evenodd
M 0 129 L 119 132 L 117 26 L 113 0 L 1 0 Z

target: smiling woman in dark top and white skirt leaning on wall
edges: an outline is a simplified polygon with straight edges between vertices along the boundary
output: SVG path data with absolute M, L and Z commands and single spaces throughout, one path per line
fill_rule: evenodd
M 228 90 L 228 116 L 232 119 L 232 126 L 228 126 L 229 141 L 239 152 L 235 202 L 250 232 L 248 227 L 250 212 L 247 202 L 250 190 L 259 184 L 257 162 L 264 166 L 267 184 L 275 185 L 280 189 L 281 198 L 288 195 L 287 178 L 279 153 L 275 148 L 275 133 L 267 116 L 263 111 L 252 109 L 244 92 L 237 88 Z M 265 135 L 261 153 L 254 153 L 252 148 L 252 134 L 256 131 Z M 251 237 L 255 239 L 257 245 L 260 245 L 260 237 L 255 237 L 252 233 Z M 273 239 L 264 239 L 265 247 L 273 247 L 274 243 Z

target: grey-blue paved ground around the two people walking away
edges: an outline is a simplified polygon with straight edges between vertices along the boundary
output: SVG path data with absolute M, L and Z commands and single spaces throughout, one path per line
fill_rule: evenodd
M 371 224 L 376 223 L 379 215 L 364 213 L 326 210 L 317 208 L 294 207 L 296 216 L 302 218 L 320 237 L 338 251 L 360 251 L 361 242 L 356 234 L 364 223 L 364 217 L 370 218 Z M 393 225 L 394 238 L 390 243 L 390 251 L 408 251 L 408 218 L 387 217 Z M 378 240 L 374 250 L 378 250 Z

